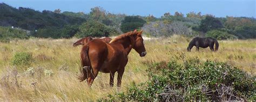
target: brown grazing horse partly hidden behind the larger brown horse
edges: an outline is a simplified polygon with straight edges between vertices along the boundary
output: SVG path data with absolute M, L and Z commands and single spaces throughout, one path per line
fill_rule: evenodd
M 102 40 L 105 43 L 109 43 L 112 40 L 111 38 L 108 38 L 108 37 L 98 38 L 98 39 Z M 77 42 L 74 43 L 73 46 L 75 47 L 78 45 L 85 45 L 85 44 L 89 43 L 91 40 L 92 40 L 92 37 L 84 37 L 82 39 L 77 40 Z

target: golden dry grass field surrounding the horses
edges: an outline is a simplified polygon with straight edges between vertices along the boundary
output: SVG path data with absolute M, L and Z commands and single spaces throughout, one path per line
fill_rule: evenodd
M 90 101 L 107 97 L 133 83 L 147 80 L 146 65 L 149 62 L 168 61 L 179 53 L 185 53 L 186 58 L 198 57 L 227 62 L 248 73 L 256 73 L 256 40 L 221 40 L 218 52 L 211 52 L 209 48 L 193 47 L 186 51 L 190 39 L 181 36 L 170 38 L 145 40 L 147 55 L 139 57 L 132 50 L 129 62 L 125 67 L 122 88 L 109 87 L 109 74 L 99 73 L 92 87 L 84 82 L 79 83 L 77 75 L 80 68 L 80 49 L 73 47 L 77 39 L 36 39 L 12 40 L 10 43 L 0 43 L 0 101 Z M 32 53 L 31 66 L 14 66 L 12 57 L 16 52 Z M 24 73 L 32 67 L 34 74 Z M 45 76 L 45 71 L 53 72 Z M 117 74 L 114 78 L 117 84 Z

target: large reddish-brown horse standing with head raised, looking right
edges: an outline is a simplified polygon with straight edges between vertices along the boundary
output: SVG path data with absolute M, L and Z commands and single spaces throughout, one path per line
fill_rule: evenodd
M 122 83 L 125 65 L 128 62 L 130 51 L 136 50 L 140 57 L 146 55 L 143 44 L 142 31 L 131 31 L 112 39 L 109 44 L 99 39 L 93 39 L 82 47 L 80 56 L 82 63 L 79 80 L 87 79 L 87 84 L 92 85 L 98 72 L 110 73 L 110 86 L 113 86 L 114 73 L 118 73 L 117 86 Z

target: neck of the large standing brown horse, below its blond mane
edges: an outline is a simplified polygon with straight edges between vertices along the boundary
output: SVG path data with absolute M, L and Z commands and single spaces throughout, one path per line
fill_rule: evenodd
M 117 45 L 121 45 L 124 48 L 127 55 L 129 55 L 130 51 L 132 50 L 131 40 L 129 37 L 120 39 L 117 42 L 113 42 L 113 43 Z

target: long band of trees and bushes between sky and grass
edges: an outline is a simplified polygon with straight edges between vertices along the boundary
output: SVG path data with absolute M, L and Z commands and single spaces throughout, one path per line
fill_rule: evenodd
M 13 8 L 0 3 L 0 39 L 8 35 L 18 35 L 10 26 L 30 31 L 26 37 L 12 38 L 71 38 L 71 37 L 108 37 L 120 35 L 134 29 L 143 29 L 146 36 L 168 37 L 185 35 L 214 37 L 217 39 L 256 38 L 256 19 L 249 17 L 214 17 L 201 15 L 201 12 L 190 12 L 186 17 L 181 12 L 164 13 L 160 18 L 149 16 L 127 16 L 109 13 L 103 8 L 92 8 L 90 13 L 62 12 L 30 8 Z M 16 29 L 18 30 L 18 29 Z M 21 31 L 22 33 L 22 31 Z M 6 39 L 5 39 L 6 40 Z

